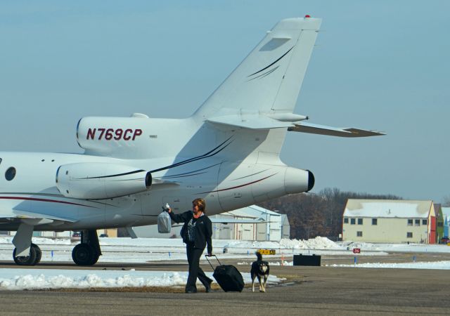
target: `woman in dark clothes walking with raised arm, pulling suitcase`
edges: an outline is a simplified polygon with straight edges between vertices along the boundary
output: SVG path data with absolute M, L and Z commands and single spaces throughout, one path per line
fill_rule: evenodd
M 205 275 L 200 268 L 200 256 L 202 256 L 207 246 L 208 256 L 212 255 L 212 223 L 205 213 L 205 200 L 194 199 L 192 202 L 192 211 L 186 211 L 181 214 L 174 214 L 172 209 L 168 209 L 170 218 L 176 223 L 183 222 L 181 228 L 181 237 L 186 244 L 186 254 L 189 263 L 188 282 L 186 283 L 186 293 L 196 293 L 197 287 L 195 282 L 197 278 L 202 282 L 205 291 L 211 291 L 212 279 Z

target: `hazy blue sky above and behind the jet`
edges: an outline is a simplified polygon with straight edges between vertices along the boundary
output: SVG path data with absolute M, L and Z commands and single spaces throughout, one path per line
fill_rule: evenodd
M 0 1 L 0 150 L 82 152 L 81 117 L 188 117 L 282 18 L 323 18 L 290 133 L 319 192 L 450 195 L 450 1 Z

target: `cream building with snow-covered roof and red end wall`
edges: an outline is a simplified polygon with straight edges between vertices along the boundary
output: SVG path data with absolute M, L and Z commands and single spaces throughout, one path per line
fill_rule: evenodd
M 431 200 L 348 199 L 342 217 L 342 240 L 436 243 Z

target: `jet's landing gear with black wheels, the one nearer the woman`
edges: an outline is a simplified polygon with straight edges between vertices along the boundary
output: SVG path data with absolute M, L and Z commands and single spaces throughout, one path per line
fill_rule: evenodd
M 72 259 L 77 265 L 94 265 L 101 256 L 96 230 L 83 230 L 82 242 L 72 250 Z

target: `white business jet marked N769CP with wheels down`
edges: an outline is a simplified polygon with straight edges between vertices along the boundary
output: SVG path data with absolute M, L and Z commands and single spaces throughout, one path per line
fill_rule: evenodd
M 77 265 L 101 256 L 96 230 L 156 223 L 202 197 L 210 215 L 308 192 L 311 171 L 286 166 L 288 131 L 365 137 L 376 131 L 308 124 L 294 114 L 321 19 L 278 22 L 198 110 L 186 119 L 84 117 L 84 154 L 0 152 L 0 230 L 17 230 L 13 259 L 35 265 L 32 232 L 81 230 Z

